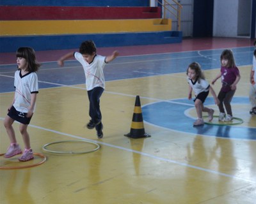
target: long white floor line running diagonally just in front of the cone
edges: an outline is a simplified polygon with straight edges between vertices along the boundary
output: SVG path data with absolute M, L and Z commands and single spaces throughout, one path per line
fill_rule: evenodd
M 0 119 L 4 120 L 3 117 L 0 117 Z M 245 182 L 256 183 L 256 182 L 254 182 L 252 180 L 249 180 L 249 179 L 243 179 L 241 177 L 236 177 L 236 176 L 233 176 L 233 175 L 229 175 L 227 173 L 221 173 L 219 171 L 209 170 L 207 168 L 201 168 L 199 166 L 194 166 L 194 165 L 191 165 L 191 164 L 181 163 L 179 161 L 175 161 L 175 160 L 172 160 L 172 159 L 166 159 L 166 158 L 163 158 L 163 157 L 154 156 L 152 154 L 148 154 L 148 153 L 145 153 L 145 152 L 140 152 L 138 150 L 128 149 L 128 148 L 125 148 L 125 147 L 120 147 L 120 146 L 112 145 L 112 144 L 105 143 L 105 142 L 99 142 L 99 141 L 96 141 L 96 140 L 90 140 L 90 139 L 82 138 L 80 136 L 71 135 L 71 134 L 68 134 L 68 133 L 61 133 L 60 131 L 55 131 L 53 129 L 48 129 L 48 128 L 42 128 L 40 126 L 34 126 L 34 125 L 31 125 L 31 124 L 29 124 L 29 126 L 31 126 L 33 128 L 37 128 L 37 129 L 42 129 L 44 131 L 49 131 L 51 133 L 56 133 L 58 135 L 70 136 L 71 138 L 76 138 L 76 139 L 79 139 L 79 140 L 85 140 L 85 141 L 88 141 L 88 142 L 95 142 L 95 143 L 98 143 L 100 145 L 105 145 L 105 146 L 112 147 L 112 148 L 115 148 L 115 149 L 120 149 L 120 150 L 125 150 L 127 152 L 132 152 L 132 153 L 140 154 L 142 156 L 150 157 L 152 159 L 158 159 L 159 161 L 165 161 L 167 163 L 178 164 L 180 166 L 185 166 L 185 167 L 193 168 L 193 169 L 196 169 L 196 170 L 205 171 L 207 173 L 213 173 L 213 174 L 220 175 L 220 176 L 223 176 L 223 177 L 228 177 L 230 179 L 237 179 L 237 180 L 243 180 Z

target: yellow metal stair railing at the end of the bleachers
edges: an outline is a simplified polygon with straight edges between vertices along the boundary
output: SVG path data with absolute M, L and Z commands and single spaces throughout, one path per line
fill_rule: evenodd
M 170 4 L 167 0 L 162 0 L 162 1 L 156 0 L 157 4 L 160 4 L 162 6 L 163 18 L 166 18 L 166 11 L 168 11 L 175 18 L 177 18 L 177 31 L 180 31 L 180 11 L 182 9 L 182 5 L 175 0 L 171 0 L 171 1 L 175 3 L 175 6 L 173 6 L 173 4 Z M 172 10 L 169 9 L 170 8 L 169 6 L 172 8 Z

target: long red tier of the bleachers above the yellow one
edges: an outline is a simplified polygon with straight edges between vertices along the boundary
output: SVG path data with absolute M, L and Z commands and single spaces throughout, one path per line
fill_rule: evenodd
M 0 6 L 0 20 L 161 18 L 159 7 Z

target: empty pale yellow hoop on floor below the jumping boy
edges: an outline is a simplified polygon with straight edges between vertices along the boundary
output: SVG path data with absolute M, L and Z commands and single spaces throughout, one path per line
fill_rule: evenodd
M 50 146 L 50 145 L 54 145 L 54 144 L 57 144 L 57 143 L 68 143 L 68 142 L 85 142 L 85 143 L 90 143 L 92 145 L 95 145 L 95 149 L 84 151 L 84 152 L 73 152 L 73 151 L 65 152 L 65 151 L 55 151 L 55 150 L 47 149 L 47 147 Z M 45 152 L 50 152 L 50 153 L 53 153 L 53 154 L 86 154 L 86 153 L 90 153 L 90 152 L 95 152 L 96 150 L 100 149 L 100 145 L 98 143 L 90 142 L 90 141 L 86 141 L 86 140 L 63 140 L 63 141 L 58 141 L 58 142 L 47 143 L 47 144 L 45 144 L 42 147 L 42 149 Z

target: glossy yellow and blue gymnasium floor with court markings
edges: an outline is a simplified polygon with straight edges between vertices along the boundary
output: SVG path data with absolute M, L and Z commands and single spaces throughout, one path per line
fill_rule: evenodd
M 84 128 L 89 117 L 83 69 L 76 61 L 68 61 L 65 68 L 56 64 L 70 50 L 36 52 L 43 66 L 28 131 L 31 147 L 39 155 L 26 163 L 18 157 L 0 157 L 0 203 L 255 204 L 256 116 L 249 114 L 248 100 L 252 44 L 249 39 L 207 38 L 118 48 L 120 57 L 105 68 L 101 140 L 94 129 Z M 186 68 L 199 62 L 211 82 L 220 71 L 225 48 L 232 48 L 241 71 L 232 109 L 243 123 L 214 121 L 193 128 L 196 112 L 188 100 Z M 98 53 L 114 49 L 99 48 Z M 3 120 L 13 98 L 16 61 L 15 54 L 0 54 L 0 59 L 3 154 L 10 145 Z M 220 81 L 214 85 L 217 93 L 220 85 Z M 124 136 L 131 129 L 136 96 L 148 138 Z M 211 96 L 205 105 L 218 115 Z M 19 124 L 13 127 L 23 148 Z M 55 154 L 42 149 L 48 143 L 52 144 L 45 148 Z M 42 155 L 47 160 L 38 165 Z

